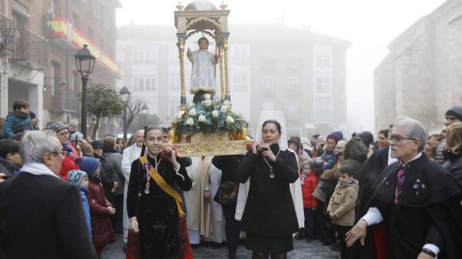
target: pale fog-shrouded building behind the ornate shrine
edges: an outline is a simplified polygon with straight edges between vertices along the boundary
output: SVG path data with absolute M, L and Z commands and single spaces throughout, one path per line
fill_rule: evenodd
M 345 127 L 349 42 L 282 24 L 230 25 L 229 31 L 231 102 L 233 110 L 250 121 L 250 134 L 261 110 L 283 110 L 289 135 L 328 134 Z M 186 40 L 185 55 L 187 49 L 198 49 L 199 37 L 202 34 L 197 33 Z M 176 42 L 173 26 L 118 28 L 116 56 L 124 70 L 118 89 L 127 86 L 164 125 L 180 106 Z M 209 51 L 214 50 L 211 41 Z M 188 102 L 190 70 L 185 56 Z M 216 75 L 218 85 L 218 67 Z

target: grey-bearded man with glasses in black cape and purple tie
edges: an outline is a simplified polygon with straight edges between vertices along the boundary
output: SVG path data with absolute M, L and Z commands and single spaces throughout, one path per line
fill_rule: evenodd
M 398 161 L 377 179 L 367 214 L 346 234 L 347 246 L 358 239 L 364 245 L 367 226 L 384 222 L 385 258 L 460 257 L 462 191 L 450 172 L 422 153 L 426 139 L 417 120 L 394 122 L 389 141 Z

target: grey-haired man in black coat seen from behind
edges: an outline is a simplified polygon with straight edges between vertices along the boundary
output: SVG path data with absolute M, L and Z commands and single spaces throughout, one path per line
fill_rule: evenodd
M 0 258 L 96 259 L 80 192 L 59 177 L 59 140 L 28 132 L 20 153 L 20 174 L 0 183 Z

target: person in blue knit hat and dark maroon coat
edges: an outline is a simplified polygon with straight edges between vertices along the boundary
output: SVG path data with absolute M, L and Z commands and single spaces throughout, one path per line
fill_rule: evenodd
M 104 246 L 116 241 L 109 215 L 114 215 L 116 209 L 104 196 L 103 185 L 99 177 L 99 160 L 92 157 L 82 157 L 75 160 L 80 170 L 87 173 L 90 178 L 88 185 L 88 203 L 90 205 L 90 217 L 92 220 L 92 239 L 98 258 L 101 257 Z

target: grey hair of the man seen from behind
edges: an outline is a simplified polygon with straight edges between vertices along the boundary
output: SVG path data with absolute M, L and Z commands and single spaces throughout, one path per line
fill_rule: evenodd
M 24 164 L 44 163 L 44 154 L 56 152 L 60 145 L 53 131 L 34 130 L 24 134 L 19 152 Z

